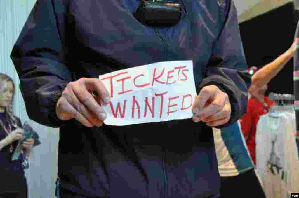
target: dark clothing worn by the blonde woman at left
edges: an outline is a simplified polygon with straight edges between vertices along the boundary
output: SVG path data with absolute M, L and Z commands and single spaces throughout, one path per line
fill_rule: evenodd
M 8 127 L 8 121 L 5 117 L 5 113 L 0 113 L 0 119 L 3 124 Z M 18 125 L 22 127 L 20 119 L 17 118 Z M 10 126 L 11 130 L 15 130 L 14 126 Z M 0 126 L 0 140 L 4 139 L 7 133 Z M 18 141 L 13 142 L 13 149 L 16 148 Z M 10 145 L 4 146 L 0 151 L 0 178 L 1 187 L 0 194 L 4 192 L 17 192 L 24 188 L 27 188 L 26 178 L 24 170 L 22 168 L 21 159 L 11 161 L 13 152 L 10 152 Z

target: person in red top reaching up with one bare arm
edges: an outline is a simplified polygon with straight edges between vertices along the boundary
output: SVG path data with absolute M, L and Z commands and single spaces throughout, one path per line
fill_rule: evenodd
M 248 93 L 251 97 L 248 100 L 247 113 L 240 118 L 240 124 L 250 156 L 255 165 L 255 135 L 257 122 L 260 119 L 260 116 L 268 113 L 270 106 L 275 104 L 275 101 L 271 101 L 268 96 L 265 96 L 268 88 L 267 84 L 280 72 L 286 63 L 292 59 L 295 46 L 294 42 L 285 53 L 259 70 L 257 67 L 248 68 L 248 72 L 252 75 L 252 84 L 248 89 Z

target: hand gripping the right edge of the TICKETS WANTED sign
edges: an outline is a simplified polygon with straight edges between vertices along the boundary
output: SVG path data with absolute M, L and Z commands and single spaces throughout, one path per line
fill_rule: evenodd
M 231 118 L 231 104 L 228 95 L 215 85 L 202 88 L 195 102 L 192 104 L 194 122 L 205 122 L 206 125 L 216 127 L 223 125 Z

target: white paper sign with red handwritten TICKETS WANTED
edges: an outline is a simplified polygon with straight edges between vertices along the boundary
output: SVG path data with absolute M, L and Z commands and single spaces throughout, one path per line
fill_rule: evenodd
M 99 76 L 110 93 L 106 125 L 191 118 L 196 98 L 192 61 L 167 61 Z

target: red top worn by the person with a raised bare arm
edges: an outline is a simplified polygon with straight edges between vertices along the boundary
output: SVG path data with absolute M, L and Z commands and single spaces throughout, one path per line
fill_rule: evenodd
M 265 102 L 262 103 L 256 98 L 250 98 L 248 100 L 247 113 L 240 118 L 242 127 L 242 133 L 246 139 L 246 144 L 250 152 L 250 156 L 256 165 L 256 151 L 255 151 L 255 135 L 257 132 L 257 122 L 260 116 L 268 113 L 271 105 L 274 105 L 275 101 L 269 100 L 265 96 Z

